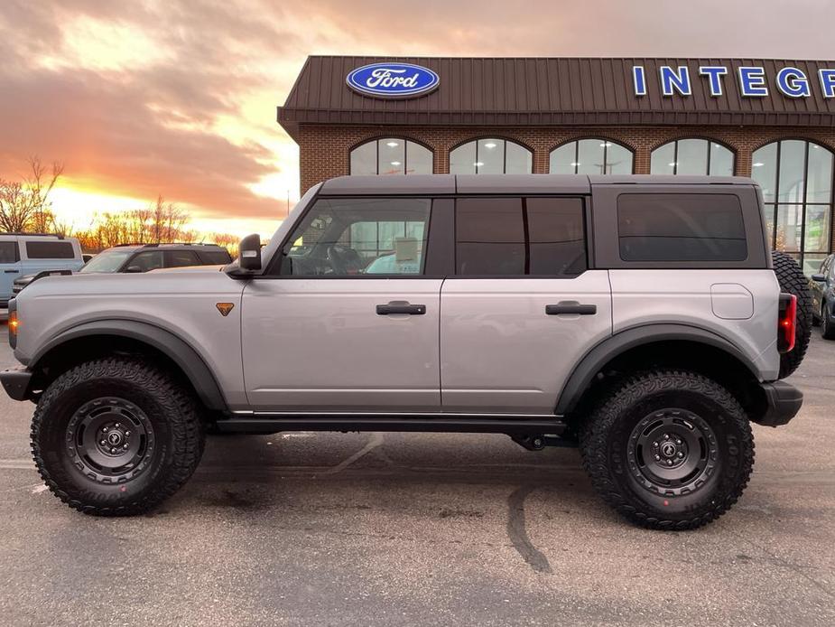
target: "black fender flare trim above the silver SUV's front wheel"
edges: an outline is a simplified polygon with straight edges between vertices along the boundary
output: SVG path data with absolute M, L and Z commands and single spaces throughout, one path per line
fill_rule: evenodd
M 170 331 L 151 323 L 136 320 L 96 320 L 79 324 L 55 335 L 46 342 L 29 360 L 29 370 L 37 368 L 38 362 L 61 344 L 92 335 L 113 335 L 143 342 L 162 352 L 179 368 L 197 392 L 203 404 L 212 410 L 226 412 L 226 399 L 220 391 L 218 380 L 190 344 Z

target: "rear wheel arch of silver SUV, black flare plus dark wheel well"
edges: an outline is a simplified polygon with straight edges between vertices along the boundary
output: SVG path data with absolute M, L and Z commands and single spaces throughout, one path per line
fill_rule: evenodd
M 686 352 L 684 352 L 686 351 Z M 711 371 L 710 359 L 732 360 L 737 368 L 722 366 Z M 744 406 L 756 416 L 765 410 L 756 365 L 736 345 L 721 335 L 686 324 L 647 324 L 626 329 L 598 343 L 571 371 L 562 387 L 555 413 L 568 416 L 589 400 L 598 382 L 610 370 L 644 367 L 679 367 L 696 370 L 748 396 Z M 707 370 L 707 371 L 706 371 Z

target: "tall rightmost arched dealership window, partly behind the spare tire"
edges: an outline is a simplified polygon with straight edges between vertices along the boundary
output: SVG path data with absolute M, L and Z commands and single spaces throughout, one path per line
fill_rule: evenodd
M 803 139 L 772 142 L 751 156 L 771 246 L 797 259 L 807 275 L 818 271 L 832 246 L 832 156 Z

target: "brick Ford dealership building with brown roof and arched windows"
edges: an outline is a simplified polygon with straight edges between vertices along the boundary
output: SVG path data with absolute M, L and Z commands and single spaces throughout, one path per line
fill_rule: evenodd
M 771 245 L 833 250 L 835 61 L 310 57 L 278 121 L 343 174 L 753 176 Z

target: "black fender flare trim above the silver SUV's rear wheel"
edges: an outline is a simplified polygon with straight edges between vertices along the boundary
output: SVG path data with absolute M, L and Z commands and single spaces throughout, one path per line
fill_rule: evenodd
M 557 416 L 565 416 L 577 407 L 583 393 L 589 388 L 592 380 L 608 361 L 638 346 L 671 340 L 707 344 L 725 351 L 731 357 L 744 363 L 755 379 L 761 379 L 755 364 L 747 358 L 745 353 L 718 333 L 688 324 L 645 324 L 617 332 L 603 342 L 599 342 L 587 352 L 580 363 L 571 371 L 565 385 L 562 386 L 555 413 Z

